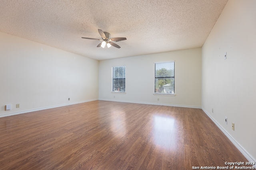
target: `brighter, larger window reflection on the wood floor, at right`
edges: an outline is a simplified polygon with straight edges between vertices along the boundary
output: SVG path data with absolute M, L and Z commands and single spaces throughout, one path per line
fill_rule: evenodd
M 154 142 L 164 149 L 176 145 L 174 119 L 164 115 L 154 115 Z

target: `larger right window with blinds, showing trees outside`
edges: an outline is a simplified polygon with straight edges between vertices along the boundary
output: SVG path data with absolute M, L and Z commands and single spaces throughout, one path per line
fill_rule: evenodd
M 174 94 L 175 63 L 155 63 L 155 93 Z

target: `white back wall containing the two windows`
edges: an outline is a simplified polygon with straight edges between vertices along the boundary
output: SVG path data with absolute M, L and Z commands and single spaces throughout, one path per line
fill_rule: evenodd
M 153 95 L 154 63 L 162 61 L 175 61 L 176 96 Z M 126 94 L 111 93 L 111 69 L 118 65 L 126 66 Z M 99 99 L 200 108 L 201 48 L 100 61 Z

